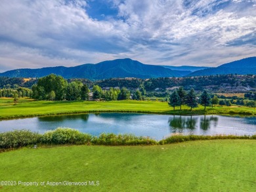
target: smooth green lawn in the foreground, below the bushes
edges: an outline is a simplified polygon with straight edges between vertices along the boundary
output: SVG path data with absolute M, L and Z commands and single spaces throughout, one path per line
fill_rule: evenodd
M 0 180 L 99 181 L 98 186 L 0 186 L 1 191 L 256 191 L 256 141 L 61 146 L 0 153 Z

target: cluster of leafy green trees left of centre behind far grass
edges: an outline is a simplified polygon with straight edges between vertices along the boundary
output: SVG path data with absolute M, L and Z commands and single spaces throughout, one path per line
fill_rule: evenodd
M 66 79 L 54 74 L 38 79 L 37 84 L 32 86 L 32 98 L 36 100 L 89 100 L 92 93 L 93 100 L 129 100 L 131 92 L 123 87 L 110 87 L 102 90 L 98 85 L 93 85 L 92 90 L 81 81 L 68 83 Z M 134 99 L 142 100 L 141 93 L 135 92 Z

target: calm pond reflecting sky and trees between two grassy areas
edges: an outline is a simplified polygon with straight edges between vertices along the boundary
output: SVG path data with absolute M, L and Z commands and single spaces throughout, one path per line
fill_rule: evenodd
M 102 132 L 131 133 L 161 140 L 170 134 L 256 134 L 256 117 L 229 117 L 221 115 L 154 115 L 139 113 L 99 113 L 56 115 L 0 121 L 0 132 L 29 129 L 45 132 L 57 127 L 76 128 L 95 136 Z

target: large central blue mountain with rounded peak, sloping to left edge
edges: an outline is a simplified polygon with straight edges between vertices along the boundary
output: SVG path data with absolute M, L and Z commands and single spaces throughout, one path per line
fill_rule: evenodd
M 109 79 L 112 77 L 182 77 L 190 72 L 171 70 L 162 66 L 146 65 L 129 58 L 104 61 L 98 64 L 83 64 L 75 67 L 43 67 L 41 69 L 14 69 L 0 73 L 2 77 L 43 77 L 54 73 L 68 78 Z

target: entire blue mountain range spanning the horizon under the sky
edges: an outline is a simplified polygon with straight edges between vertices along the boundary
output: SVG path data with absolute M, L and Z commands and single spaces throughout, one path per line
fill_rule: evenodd
M 157 77 L 192 77 L 202 75 L 222 74 L 255 74 L 256 57 L 223 64 L 219 67 L 194 66 L 156 66 L 142 64 L 129 58 L 100 62 L 98 64 L 83 64 L 75 67 L 43 67 L 40 69 L 14 69 L 0 73 L 0 77 L 43 77 L 54 73 L 66 79 L 110 79 L 114 77 L 137 77 L 141 79 Z

